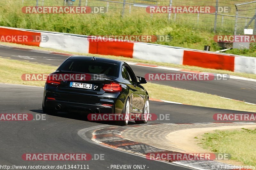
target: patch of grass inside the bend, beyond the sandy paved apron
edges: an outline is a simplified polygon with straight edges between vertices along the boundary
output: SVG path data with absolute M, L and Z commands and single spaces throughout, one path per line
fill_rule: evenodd
M 213 133 L 205 133 L 201 144 L 212 152 L 229 153 L 232 160 L 255 166 L 255 136 L 256 129 L 216 130 Z

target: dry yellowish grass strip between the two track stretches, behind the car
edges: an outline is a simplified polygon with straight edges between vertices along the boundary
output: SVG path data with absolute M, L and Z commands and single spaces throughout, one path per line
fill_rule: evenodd
M 21 75 L 26 73 L 51 73 L 56 69 L 57 67 L 55 66 L 0 58 L 0 82 L 44 86 L 44 81 L 23 81 Z M 216 95 L 152 83 L 147 83 L 144 86 L 151 98 L 170 100 L 195 106 L 256 112 L 254 105 L 235 100 L 222 99 Z

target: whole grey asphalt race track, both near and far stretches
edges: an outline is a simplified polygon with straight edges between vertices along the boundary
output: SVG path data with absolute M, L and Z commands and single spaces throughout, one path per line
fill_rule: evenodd
M 0 56 L 52 64 L 55 66 L 58 66 L 67 58 L 67 56 L 62 55 L 49 55 L 8 48 L 1 48 Z M 20 56 L 27 57 L 22 58 Z M 132 68 L 135 73 L 138 73 L 138 76 L 143 76 L 143 74 L 145 75 L 150 72 L 169 72 L 167 70 L 154 70 L 152 68 L 138 66 L 132 66 Z M 177 84 L 179 82 L 172 83 L 168 81 L 161 83 L 179 87 L 182 87 L 183 85 L 184 88 L 189 90 L 195 90 L 197 88 L 198 90 L 196 91 L 205 90 L 212 94 L 217 94 L 219 92 L 220 94 L 223 93 L 221 96 L 256 103 L 255 96 L 253 95 L 253 92 L 255 92 L 256 89 L 254 85 L 255 82 L 228 80 L 226 82 L 194 82 L 194 84 L 188 84 L 189 82 L 180 82 L 180 84 Z M 28 113 L 42 115 L 42 87 L 0 83 L 0 94 L 0 113 Z M 212 116 L 215 113 L 246 113 L 234 110 L 154 101 L 151 101 L 150 105 L 150 113 L 155 113 L 157 115 L 170 114 L 170 120 L 156 120 L 151 122 L 213 122 L 214 120 L 212 119 Z M 105 159 L 90 160 L 82 163 L 88 164 L 89 168 L 92 170 L 105 170 L 110 169 L 110 165 L 124 164 L 146 165 L 145 169 L 149 170 L 187 169 L 173 164 L 147 160 L 124 152 L 117 152 L 85 141 L 77 135 L 79 130 L 93 128 L 98 125 L 108 125 L 108 122 L 89 122 L 85 115 L 58 113 L 58 115 L 55 116 L 46 115 L 46 120 L 1 121 L 0 123 L 0 162 L 4 165 L 78 165 L 81 164 L 81 161 L 24 161 L 21 159 L 21 156 L 24 153 L 90 153 L 91 155 L 104 154 Z M 133 122 L 129 123 L 134 124 Z M 91 132 L 88 131 L 86 135 L 90 138 Z

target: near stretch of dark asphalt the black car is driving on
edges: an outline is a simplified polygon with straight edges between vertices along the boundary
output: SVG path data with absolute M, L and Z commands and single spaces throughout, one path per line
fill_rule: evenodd
M 42 114 L 43 88 L 0 83 L 0 113 Z M 241 113 L 232 110 L 196 107 L 151 101 L 151 113 L 170 114 L 170 121 L 151 122 L 212 122 L 214 113 Z M 243 112 L 245 113 L 245 112 Z M 248 112 L 249 113 L 249 112 Z M 102 125 L 104 122 L 88 122 L 86 116 L 58 113 L 46 115 L 40 121 L 1 121 L 0 162 L 4 165 L 76 165 L 79 161 L 24 161 L 24 153 L 90 153 L 104 154 L 105 160 L 87 161 L 90 169 L 109 169 L 110 165 L 146 165 L 146 169 L 186 169 L 163 162 L 147 160 L 131 154 L 84 141 L 77 135 L 80 129 Z M 106 124 L 106 123 L 105 123 Z M 130 122 L 130 124 L 134 124 Z M 107 125 L 107 124 L 106 124 Z M 90 133 L 88 133 L 90 137 Z M 83 164 L 87 164 L 87 162 Z

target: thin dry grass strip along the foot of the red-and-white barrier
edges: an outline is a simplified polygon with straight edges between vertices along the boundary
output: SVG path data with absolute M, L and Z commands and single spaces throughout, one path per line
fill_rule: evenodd
M 71 52 L 68 52 L 68 51 L 62 51 L 62 50 L 57 50 L 57 49 L 52 49 L 52 48 L 27 46 L 27 45 L 14 44 L 14 43 L 8 43 L 8 42 L 0 42 L 0 44 L 1 45 L 12 46 L 12 47 L 20 47 L 20 48 L 57 51 L 57 52 L 62 52 L 62 53 L 74 54 L 74 55 L 93 55 L 93 56 L 100 56 L 100 57 L 105 57 L 105 58 L 112 58 L 112 59 L 126 61 L 126 62 L 146 63 L 146 64 L 150 64 L 150 65 L 158 65 L 158 66 L 179 68 L 179 69 L 185 69 L 185 70 L 194 70 L 194 71 L 200 71 L 200 72 L 229 74 L 229 75 L 233 75 L 233 76 L 256 79 L 256 74 L 237 73 L 237 72 L 232 72 L 232 71 L 228 71 L 228 70 L 215 70 L 215 69 L 207 69 L 207 68 L 196 67 L 196 66 L 179 65 L 179 64 L 172 64 L 172 63 L 160 63 L 160 62 L 155 62 L 155 61 L 140 60 L 140 59 L 135 59 L 135 58 L 114 56 L 114 55 L 99 55 L 99 54 L 86 54 L 86 53 L 73 53 L 73 52 L 71 53 Z

